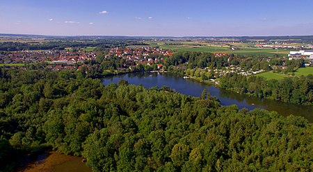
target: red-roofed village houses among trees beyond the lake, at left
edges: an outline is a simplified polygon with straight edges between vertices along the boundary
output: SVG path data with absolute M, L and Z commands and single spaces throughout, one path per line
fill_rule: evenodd
M 124 62 L 122 65 L 124 69 L 140 64 L 148 66 L 156 64 L 157 68 L 160 69 L 162 67 L 161 60 L 163 60 L 163 56 L 165 55 L 169 56 L 172 53 L 169 50 L 151 46 L 113 47 L 95 52 L 82 50 L 70 51 L 70 48 L 64 51 L 10 51 L 0 54 L 0 64 L 10 66 L 11 64 L 46 62 L 47 68 L 51 70 L 79 70 L 82 66 L 88 66 L 88 62 L 97 60 L 99 56 L 103 56 L 102 60 L 113 57 L 121 58 Z

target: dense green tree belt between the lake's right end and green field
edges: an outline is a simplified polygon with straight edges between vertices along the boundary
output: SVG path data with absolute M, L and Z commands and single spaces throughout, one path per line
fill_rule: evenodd
M 262 76 L 227 74 L 220 79 L 220 87 L 289 103 L 313 104 L 313 75 L 266 80 Z

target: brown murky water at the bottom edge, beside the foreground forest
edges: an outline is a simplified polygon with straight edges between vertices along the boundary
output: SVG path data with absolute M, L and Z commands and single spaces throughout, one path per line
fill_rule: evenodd
M 42 155 L 38 155 L 35 162 L 26 164 L 18 171 L 90 172 L 91 169 L 86 166 L 85 163 L 81 162 L 81 160 L 83 160 L 83 157 L 74 157 L 50 151 L 43 153 Z

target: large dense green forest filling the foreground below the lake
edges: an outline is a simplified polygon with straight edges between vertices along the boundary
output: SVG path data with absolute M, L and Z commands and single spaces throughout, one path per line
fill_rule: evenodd
M 50 144 L 93 171 L 312 171 L 312 124 L 168 87 L 0 70 L 0 168 Z

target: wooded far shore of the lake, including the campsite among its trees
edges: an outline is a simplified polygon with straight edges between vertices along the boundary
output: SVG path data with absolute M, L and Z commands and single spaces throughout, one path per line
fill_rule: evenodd
M 218 80 L 218 84 L 211 83 L 223 89 L 275 101 L 313 105 L 312 74 L 300 77 L 285 76 L 282 80 L 269 80 L 255 74 L 248 76 L 248 73 L 246 73 L 250 69 L 262 69 L 264 72 L 274 66 L 277 67 L 275 71 L 281 70 L 279 66 L 285 63 L 287 67 L 284 72 L 287 74 L 303 67 L 303 59 L 282 60 L 281 58 L 273 58 L 268 60 L 257 55 L 248 58 L 227 55 L 216 57 L 212 53 L 179 52 L 164 61 L 164 65 L 169 72 L 204 83 Z M 184 67 L 182 67 L 182 64 Z M 217 74 L 218 72 L 219 74 Z

